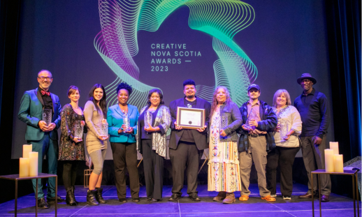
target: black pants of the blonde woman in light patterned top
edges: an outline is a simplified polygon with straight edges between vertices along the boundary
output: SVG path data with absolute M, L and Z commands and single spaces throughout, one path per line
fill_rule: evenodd
M 301 147 L 276 147 L 270 151 L 266 163 L 266 184 L 271 195 L 277 193 L 277 167 L 280 167 L 280 192 L 284 196 L 291 196 L 293 190 L 293 163 Z

